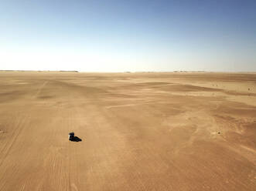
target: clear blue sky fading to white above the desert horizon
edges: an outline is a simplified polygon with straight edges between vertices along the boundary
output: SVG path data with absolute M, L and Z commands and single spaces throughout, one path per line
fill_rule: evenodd
M 0 69 L 256 71 L 254 0 L 0 0 Z

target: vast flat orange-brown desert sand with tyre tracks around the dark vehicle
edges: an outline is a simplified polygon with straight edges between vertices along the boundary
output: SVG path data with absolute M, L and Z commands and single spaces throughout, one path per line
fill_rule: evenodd
M 0 151 L 1 191 L 256 190 L 256 74 L 0 72 Z

